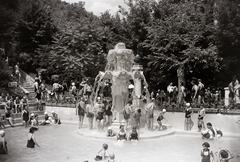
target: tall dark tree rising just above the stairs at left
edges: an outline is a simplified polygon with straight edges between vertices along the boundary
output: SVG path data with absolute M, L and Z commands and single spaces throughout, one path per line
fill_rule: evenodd
M 20 13 L 21 19 L 17 26 L 17 53 L 25 62 L 24 68 L 32 69 L 34 72 L 39 67 L 38 59 L 41 57 L 37 51 L 42 45 L 51 45 L 57 30 L 53 25 L 49 6 L 40 0 L 23 2 Z

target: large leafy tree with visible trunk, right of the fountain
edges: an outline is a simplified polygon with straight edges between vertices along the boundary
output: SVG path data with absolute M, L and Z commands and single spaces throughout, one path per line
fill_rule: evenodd
M 210 84 L 213 80 L 208 80 L 207 75 L 218 73 L 221 61 L 214 44 L 213 21 L 209 19 L 212 4 L 190 0 L 160 1 L 156 5 L 144 41 L 144 47 L 151 52 L 147 56 L 150 73 L 162 77 L 158 82 L 177 75 L 179 86 L 185 83 L 185 74 Z

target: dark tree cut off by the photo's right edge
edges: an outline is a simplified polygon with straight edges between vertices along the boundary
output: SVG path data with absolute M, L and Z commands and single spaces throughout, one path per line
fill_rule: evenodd
M 219 56 L 223 57 L 224 78 L 240 74 L 240 3 L 237 0 L 216 1 L 215 25 L 216 44 Z M 230 79 L 225 79 L 227 85 Z

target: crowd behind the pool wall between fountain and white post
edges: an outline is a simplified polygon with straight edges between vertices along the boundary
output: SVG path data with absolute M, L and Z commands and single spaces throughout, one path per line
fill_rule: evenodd
M 186 102 L 195 107 L 204 104 L 205 107 L 216 108 L 224 106 L 222 89 L 205 88 L 201 79 L 191 82 L 192 88 L 186 88 L 181 82 L 180 87 L 174 86 L 171 82 L 166 90 L 157 90 L 151 92 L 151 98 L 156 99 L 156 105 L 159 107 L 169 107 L 175 105 L 182 109 Z

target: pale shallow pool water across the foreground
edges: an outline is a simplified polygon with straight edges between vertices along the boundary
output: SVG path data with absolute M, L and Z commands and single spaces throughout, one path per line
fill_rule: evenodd
M 77 125 L 42 126 L 35 132 L 41 146 L 26 148 L 28 129 L 8 128 L 5 139 L 8 142 L 8 155 L 0 155 L 1 162 L 83 162 L 94 161 L 103 143 L 108 151 L 115 153 L 117 162 L 198 162 L 203 140 L 191 134 L 174 134 L 154 139 L 143 139 L 137 143 L 127 141 L 119 144 L 112 139 L 83 137 L 76 132 Z M 84 130 L 83 130 L 84 131 Z M 95 130 L 93 130 L 95 131 Z M 240 138 L 222 137 L 209 141 L 210 149 L 217 152 L 226 148 L 233 155 L 240 155 Z M 214 160 L 216 161 L 216 160 Z M 234 158 L 231 162 L 239 162 Z

